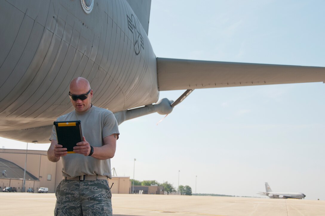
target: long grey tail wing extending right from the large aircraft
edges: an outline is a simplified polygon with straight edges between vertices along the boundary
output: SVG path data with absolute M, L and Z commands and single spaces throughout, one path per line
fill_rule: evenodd
M 324 82 L 325 67 L 157 58 L 159 90 Z

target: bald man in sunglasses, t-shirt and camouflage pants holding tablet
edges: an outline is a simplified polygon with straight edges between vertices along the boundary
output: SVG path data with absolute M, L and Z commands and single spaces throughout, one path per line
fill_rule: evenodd
M 81 121 L 83 141 L 68 154 L 58 144 L 53 126 L 47 157 L 52 162 L 62 158 L 63 179 L 56 190 L 54 215 L 112 215 L 110 158 L 114 157 L 118 124 L 114 114 L 91 104 L 93 90 L 87 79 L 78 77 L 70 83 L 70 100 L 75 110 L 57 121 Z M 96 213 L 95 213 L 96 212 Z

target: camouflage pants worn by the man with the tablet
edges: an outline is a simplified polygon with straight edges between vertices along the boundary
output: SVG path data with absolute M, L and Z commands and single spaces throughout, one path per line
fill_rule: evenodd
M 112 194 L 107 180 L 62 180 L 55 196 L 54 215 L 112 216 Z

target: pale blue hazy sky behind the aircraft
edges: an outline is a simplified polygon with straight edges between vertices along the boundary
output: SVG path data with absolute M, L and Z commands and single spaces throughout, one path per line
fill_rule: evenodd
M 324 8 L 322 0 L 152 0 L 148 36 L 157 57 L 325 67 Z M 268 182 L 325 200 L 324 93 L 323 83 L 194 90 L 158 125 L 163 115 L 123 122 L 111 165 L 193 193 L 259 197 Z

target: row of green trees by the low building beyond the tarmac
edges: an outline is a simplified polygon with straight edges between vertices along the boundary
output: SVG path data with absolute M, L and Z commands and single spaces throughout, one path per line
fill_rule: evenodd
M 131 181 L 131 184 L 133 184 L 133 179 L 130 179 Z M 164 191 L 167 192 L 167 195 L 169 193 L 176 193 L 177 192 L 177 188 L 175 188 L 171 183 L 169 182 L 163 182 L 162 184 L 157 182 L 156 180 L 143 180 L 143 181 L 138 181 L 138 180 L 135 180 L 134 179 L 134 185 L 135 186 L 151 186 L 151 185 L 158 185 L 158 186 L 163 186 L 164 187 Z M 188 185 L 186 186 L 183 186 L 183 185 L 180 185 L 178 187 L 178 192 L 180 195 L 189 195 L 191 196 L 192 195 L 192 188 Z

